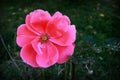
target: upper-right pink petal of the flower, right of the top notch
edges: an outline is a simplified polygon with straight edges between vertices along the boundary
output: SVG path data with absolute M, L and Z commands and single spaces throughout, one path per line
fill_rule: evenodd
M 60 12 L 56 12 L 48 22 L 46 32 L 52 37 L 59 37 L 68 30 L 70 20 Z

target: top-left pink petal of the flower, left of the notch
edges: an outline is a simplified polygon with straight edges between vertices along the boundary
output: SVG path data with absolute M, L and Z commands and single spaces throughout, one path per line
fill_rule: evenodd
M 35 10 L 26 16 L 26 24 L 30 30 L 43 33 L 51 15 L 44 10 Z

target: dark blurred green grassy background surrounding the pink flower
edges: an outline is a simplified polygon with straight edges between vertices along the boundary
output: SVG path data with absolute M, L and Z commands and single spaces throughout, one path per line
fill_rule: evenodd
M 26 15 L 60 11 L 76 25 L 74 55 L 47 69 L 23 63 L 16 29 Z M 119 0 L 0 0 L 0 80 L 120 80 Z

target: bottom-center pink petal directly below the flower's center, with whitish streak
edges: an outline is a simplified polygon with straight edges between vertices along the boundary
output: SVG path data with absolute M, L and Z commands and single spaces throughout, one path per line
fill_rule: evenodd
M 37 43 L 37 42 L 36 42 Z M 33 44 L 34 49 L 38 49 L 36 61 L 39 66 L 42 68 L 47 68 L 55 64 L 58 60 L 58 50 L 50 42 L 43 44 Z M 36 45 L 36 46 L 35 46 Z M 39 45 L 39 46 L 38 46 Z

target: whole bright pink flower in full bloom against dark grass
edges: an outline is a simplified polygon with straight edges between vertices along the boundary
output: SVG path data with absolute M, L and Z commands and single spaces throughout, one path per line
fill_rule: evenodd
M 53 16 L 35 10 L 26 16 L 25 24 L 17 29 L 17 44 L 22 47 L 20 57 L 32 67 L 47 68 L 62 64 L 74 52 L 76 29 L 66 15 Z

